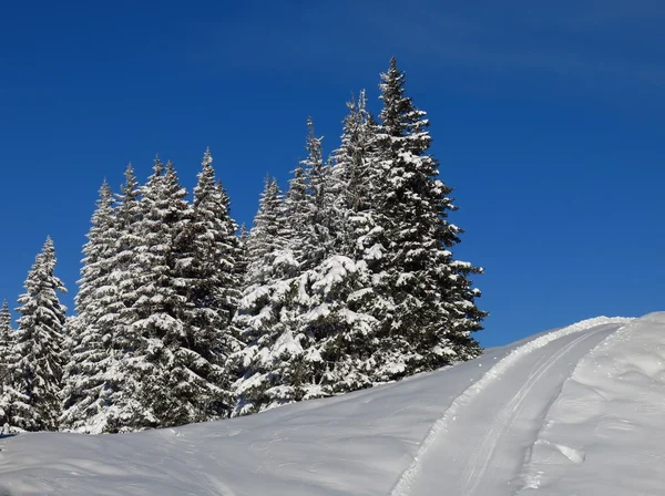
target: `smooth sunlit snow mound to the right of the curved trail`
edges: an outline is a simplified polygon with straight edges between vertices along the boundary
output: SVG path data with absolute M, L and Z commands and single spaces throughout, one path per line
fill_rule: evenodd
M 584 356 L 528 453 L 526 495 L 665 494 L 665 313 Z

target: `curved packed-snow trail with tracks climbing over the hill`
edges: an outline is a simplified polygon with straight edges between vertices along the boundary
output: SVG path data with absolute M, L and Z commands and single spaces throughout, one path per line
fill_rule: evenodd
M 576 363 L 626 319 L 597 318 L 513 350 L 433 425 L 392 496 L 502 496 Z

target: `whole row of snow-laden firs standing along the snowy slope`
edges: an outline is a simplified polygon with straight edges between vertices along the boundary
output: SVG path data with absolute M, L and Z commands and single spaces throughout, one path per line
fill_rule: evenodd
M 205 152 L 192 202 L 172 163 L 140 185 L 104 182 L 65 317 L 49 238 L 0 310 L 0 424 L 126 432 L 259 412 L 477 356 L 487 316 L 458 260 L 457 207 L 429 153 L 424 112 L 395 59 L 375 118 L 348 103 L 324 158 L 283 193 L 267 177 L 249 231 Z

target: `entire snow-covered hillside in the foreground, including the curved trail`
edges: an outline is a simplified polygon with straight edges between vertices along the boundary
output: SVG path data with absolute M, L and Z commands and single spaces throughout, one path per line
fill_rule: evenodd
M 396 384 L 121 435 L 0 438 L 0 495 L 665 494 L 665 313 Z

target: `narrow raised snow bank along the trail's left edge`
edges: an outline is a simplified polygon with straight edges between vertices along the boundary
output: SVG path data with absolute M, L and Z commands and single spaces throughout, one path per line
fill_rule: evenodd
M 497 362 L 494 366 L 488 370 L 488 372 L 474 384 L 469 386 L 462 394 L 453 400 L 450 407 L 443 413 L 443 415 L 434 422 L 427 436 L 424 437 L 420 448 L 413 456 L 411 465 L 401 474 L 390 496 L 408 496 L 413 480 L 420 473 L 421 458 L 430 450 L 430 447 L 437 442 L 439 435 L 450 427 L 450 425 L 457 420 L 457 414 L 461 406 L 466 405 L 471 399 L 478 393 L 482 392 L 488 385 L 500 378 L 507 369 L 512 366 L 521 356 L 539 349 L 543 348 L 550 342 L 563 338 L 569 334 L 576 332 L 586 331 L 589 329 L 603 326 L 603 324 L 616 324 L 616 323 L 628 323 L 634 319 L 624 317 L 595 317 L 593 319 L 586 319 L 574 323 L 572 326 L 562 328 L 557 331 L 549 332 L 532 341 L 524 343 L 523 345 L 515 348 L 502 360 Z

